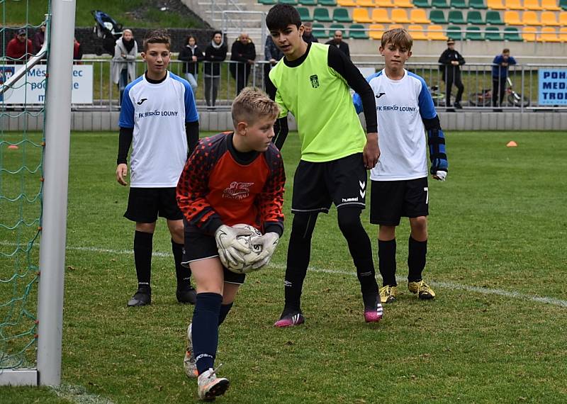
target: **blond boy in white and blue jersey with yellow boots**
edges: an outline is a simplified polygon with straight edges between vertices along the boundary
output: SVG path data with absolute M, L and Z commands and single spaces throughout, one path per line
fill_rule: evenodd
M 380 54 L 385 68 L 366 80 L 376 97 L 376 116 L 381 155 L 371 170 L 370 222 L 379 225 L 378 267 L 383 279 L 382 303 L 398 296 L 395 280 L 395 228 L 402 216 L 410 219 L 408 288 L 420 299 L 435 293 L 422 279 L 427 254 L 427 144 L 430 148 L 434 179 L 447 177 L 445 138 L 424 79 L 404 69 L 412 55 L 412 37 L 404 29 L 388 30 L 382 35 Z M 358 94 L 357 112 L 362 111 Z

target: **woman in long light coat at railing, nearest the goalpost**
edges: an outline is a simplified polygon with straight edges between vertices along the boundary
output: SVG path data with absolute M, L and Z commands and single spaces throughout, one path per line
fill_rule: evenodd
M 137 43 L 134 34 L 132 30 L 125 29 L 122 31 L 122 37 L 116 40 L 111 65 L 112 82 L 118 84 L 120 91 L 120 105 L 126 84 L 136 78 L 136 56 Z

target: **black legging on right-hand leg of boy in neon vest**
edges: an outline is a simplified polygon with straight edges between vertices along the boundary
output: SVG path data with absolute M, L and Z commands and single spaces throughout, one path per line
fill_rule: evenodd
M 376 271 L 372 259 L 372 244 L 360 221 L 360 208 L 341 208 L 337 212 L 339 229 L 347 239 L 349 252 L 354 266 L 357 267 L 357 278 L 362 295 L 378 293 Z

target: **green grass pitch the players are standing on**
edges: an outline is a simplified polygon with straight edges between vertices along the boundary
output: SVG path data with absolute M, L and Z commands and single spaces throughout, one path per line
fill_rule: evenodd
M 518 147 L 506 147 L 510 140 Z M 152 305 L 126 307 L 135 290 L 134 228 L 122 217 L 128 189 L 114 178 L 117 143 L 116 133 L 72 135 L 62 381 L 89 393 L 68 395 L 75 403 L 96 395 L 101 403 L 193 403 L 196 382 L 182 366 L 193 307 L 176 303 L 164 222 L 155 235 L 161 254 L 152 261 Z M 249 276 L 220 329 L 217 364 L 231 386 L 218 402 L 564 403 L 565 150 L 565 133 L 448 133 L 449 176 L 430 180 L 425 279 L 437 299 L 418 301 L 403 281 L 404 220 L 401 296 L 378 325 L 364 323 L 333 209 L 315 228 L 305 325 L 279 330 L 272 325 L 283 305 L 299 158 L 291 134 L 283 147 L 286 232 L 271 266 Z M 8 162 L 9 151 L 3 156 Z M 377 228 L 368 218 L 366 209 L 376 259 Z M 0 388 L 0 403 L 67 398 L 45 388 Z

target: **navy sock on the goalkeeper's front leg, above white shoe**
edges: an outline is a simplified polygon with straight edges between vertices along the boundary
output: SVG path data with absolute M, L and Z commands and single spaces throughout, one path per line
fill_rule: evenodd
M 223 296 L 218 293 L 197 293 L 193 311 L 191 341 L 198 374 L 214 369 L 218 347 L 218 320 Z

